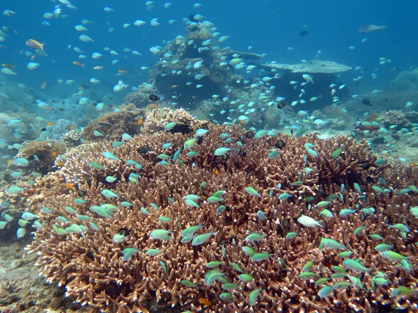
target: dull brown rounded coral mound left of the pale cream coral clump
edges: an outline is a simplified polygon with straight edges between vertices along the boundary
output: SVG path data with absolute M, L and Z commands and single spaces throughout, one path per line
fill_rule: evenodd
M 100 115 L 92 120 L 82 130 L 82 138 L 86 141 L 120 140 L 122 134 L 139 134 L 142 127 L 141 119 L 144 118 L 144 110 L 137 109 L 134 105 L 121 106 L 119 111 Z M 100 131 L 103 136 L 96 136 L 94 131 Z

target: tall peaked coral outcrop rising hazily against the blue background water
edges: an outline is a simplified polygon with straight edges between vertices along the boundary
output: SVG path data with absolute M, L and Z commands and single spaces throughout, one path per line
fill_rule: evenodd
M 150 83 L 153 83 L 161 95 L 177 93 L 176 103 L 188 103 L 195 98 L 196 106 L 212 95 L 226 96 L 225 85 L 237 86 L 236 81 L 242 79 L 235 74 L 232 66 L 222 66 L 222 62 L 230 56 L 229 49 L 215 49 L 217 38 L 212 36 L 210 24 L 187 24 L 186 37 L 178 35 L 167 42 L 160 53 L 160 61 L 150 70 Z M 206 47 L 206 40 L 210 46 Z M 219 48 L 219 47 L 217 47 Z M 239 52 L 236 52 L 239 55 Z M 201 62 L 201 64 L 195 65 Z M 203 75 L 194 79 L 196 74 Z M 205 86 L 196 88 L 197 85 Z

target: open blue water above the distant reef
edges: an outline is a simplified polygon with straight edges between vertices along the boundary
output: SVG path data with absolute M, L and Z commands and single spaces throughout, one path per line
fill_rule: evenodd
M 3 63 L 16 65 L 19 72 L 13 81 L 24 83 L 33 88 L 39 88 L 47 81 L 49 88 L 56 84 L 57 79 L 76 79 L 76 85 L 88 83 L 91 77 L 102 80 L 108 88 L 114 86 L 114 77 L 119 69 L 132 70 L 135 65 L 149 66 L 157 61 L 148 49 L 162 45 L 162 40 L 171 40 L 176 35 L 184 35 L 183 17 L 192 13 L 204 15 L 213 22 L 217 31 L 231 38 L 225 45 L 238 51 L 245 51 L 249 45 L 251 51 L 265 53 L 267 61 L 281 63 L 299 63 L 302 59 L 311 59 L 316 51 L 322 50 L 322 58 L 339 63 L 363 66 L 366 73 L 378 67 L 377 60 L 381 56 L 392 59 L 391 65 L 380 68 L 378 81 L 393 79 L 396 73 L 389 72 L 389 66 L 408 69 L 416 64 L 415 50 L 417 40 L 414 40 L 416 25 L 415 12 L 418 4 L 415 1 L 201 1 L 200 8 L 193 8 L 195 1 L 172 1 L 169 8 L 164 8 L 164 1 L 155 1 L 155 8 L 148 12 L 145 1 L 72 1 L 78 10 L 63 8 L 62 19 L 47 19 L 50 26 L 42 26 L 43 13 L 52 12 L 57 3 L 51 1 L 3 1 L 2 8 L 17 12 L 12 17 L 2 16 L 2 24 L 10 26 L 19 35 L 9 35 L 0 50 Z M 115 12 L 107 13 L 104 6 L 109 6 Z M 136 19 L 148 22 L 158 17 L 161 26 L 134 26 Z M 74 26 L 81 24 L 82 19 L 89 19 L 95 24 L 86 26 L 88 34 L 95 42 L 81 42 Z M 176 23 L 168 24 L 169 19 Z M 108 33 L 109 26 L 114 27 L 113 33 Z M 132 25 L 123 29 L 124 23 Z M 364 24 L 387 25 L 384 31 L 362 34 L 357 29 Z M 306 26 L 306 27 L 305 27 Z M 298 33 L 304 29 L 311 31 L 309 35 L 300 37 Z M 33 38 L 45 42 L 46 58 L 38 57 L 40 63 L 37 70 L 26 70 L 29 58 L 20 55 L 21 50 L 27 50 L 27 39 Z M 363 38 L 368 40 L 361 44 Z M 68 45 L 79 47 L 85 51 L 87 58 L 80 60 L 77 53 L 67 49 Z M 355 46 L 355 50 L 348 47 Z M 108 53 L 103 53 L 104 47 L 118 51 L 120 56 L 117 65 L 111 65 L 116 59 Z M 127 54 L 123 58 L 122 49 L 136 49 L 142 56 Z M 286 50 L 295 48 L 294 51 Z M 93 52 L 104 56 L 99 60 L 91 58 Z M 412 59 L 412 60 L 411 60 Z M 72 61 L 86 64 L 85 68 L 77 67 Z M 103 71 L 93 71 L 94 65 L 104 65 Z M 146 73 L 140 79 L 146 80 Z M 113 79 L 112 79 L 113 78 Z M 366 79 L 370 79 L 366 75 Z M 130 81 L 129 77 L 125 80 Z M 78 83 L 78 84 L 77 84 Z M 134 83 L 134 81 L 132 81 Z M 66 87 L 66 86 L 64 86 Z M 70 93 L 71 88 L 63 88 L 63 93 Z M 47 90 L 45 90 L 47 92 Z

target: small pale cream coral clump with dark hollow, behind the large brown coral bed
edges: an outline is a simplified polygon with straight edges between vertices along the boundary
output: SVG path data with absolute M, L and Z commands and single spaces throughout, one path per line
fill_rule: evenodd
M 177 122 L 177 125 L 169 130 L 169 132 L 173 134 L 178 132 L 189 134 L 196 131 L 196 129 L 206 127 L 209 123 L 206 120 L 197 120 L 183 108 L 177 110 L 162 108 L 149 111 L 146 114 L 144 129 L 142 129 L 142 131 L 144 134 L 163 131 L 165 125 L 169 122 Z

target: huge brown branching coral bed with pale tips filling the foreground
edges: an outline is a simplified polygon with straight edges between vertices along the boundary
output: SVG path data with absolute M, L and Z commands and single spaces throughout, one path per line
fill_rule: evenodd
M 184 310 L 204 312 L 372 312 L 381 305 L 417 310 L 416 294 L 409 298 L 390 296 L 390 291 L 400 285 L 417 288 L 415 264 L 410 271 L 397 267 L 374 250 L 377 243 L 368 236 L 380 234 L 385 243 L 393 244 L 401 254 L 417 255 L 414 244 L 418 240 L 417 218 L 408 209 L 416 206 L 418 200 L 409 194 L 396 195 L 399 189 L 417 184 L 417 168 L 377 166 L 376 156 L 365 143 L 355 143 L 347 137 L 326 141 L 316 135 L 254 139 L 254 134 L 251 136 L 251 132 L 245 133 L 236 126 L 210 126 L 209 130 L 203 142 L 193 147 L 199 153 L 196 157 L 189 158 L 186 152 L 180 154 L 183 164 L 159 163 L 158 154 L 173 154 L 188 139 L 183 134 L 168 132 L 136 136 L 114 149 L 110 143 L 102 142 L 68 152 L 65 165 L 38 181 L 36 188 L 40 193 L 29 198 L 31 208 L 52 210 L 49 214 L 40 212 L 42 230 L 36 231 L 33 243 L 28 246 L 29 252 L 38 255 L 38 266 L 47 281 L 65 284 L 66 294 L 90 306 L 92 312 L 146 312 L 144 301 L 148 298 L 155 298 L 160 304 L 180 304 Z M 228 152 L 225 157 L 215 157 L 216 148 L 228 146 L 219 138 L 226 132 L 233 142 L 241 141 L 243 147 Z M 318 157 L 306 154 L 304 144 L 308 142 L 315 145 Z M 162 150 L 163 143 L 173 145 L 169 150 Z M 270 147 L 275 145 L 281 147 L 281 154 L 269 159 Z M 235 144 L 229 147 L 235 149 Z M 342 148 L 341 154 L 332 158 L 332 152 L 338 147 Z M 105 151 L 112 152 L 118 160 L 104 159 Z M 128 166 L 127 160 L 137 161 L 141 169 Z M 103 168 L 92 169 L 88 166 L 92 161 Z M 311 172 L 304 171 L 307 166 Z M 128 182 L 132 172 L 140 175 L 137 182 Z M 105 182 L 104 177 L 108 175 L 117 181 Z M 383 177 L 393 191 L 373 192 L 364 182 L 366 177 L 375 180 Z M 63 182 L 69 180 L 76 187 L 74 191 L 64 191 Z M 302 184 L 294 184 L 298 180 Z M 354 183 L 359 184 L 362 193 L 353 187 Z M 342 190 L 341 184 L 345 184 Z M 255 188 L 261 196 L 249 195 L 245 191 L 247 186 Z M 101 193 L 104 188 L 114 191 L 119 198 L 104 198 Z M 226 193 L 218 204 L 207 201 L 199 202 L 200 207 L 185 204 L 185 195 L 209 197 L 219 190 Z M 293 197 L 279 200 L 277 195 L 285 191 Z M 324 218 L 317 204 L 325 194 L 334 193 L 341 193 L 344 200 L 338 197 L 330 202 L 327 209 L 333 216 Z M 86 204 L 75 205 L 74 200 L 80 197 Z M 94 206 L 119 205 L 121 201 L 132 206 L 118 207 L 111 218 L 93 212 Z M 218 214 L 219 204 L 225 210 Z M 74 207 L 77 214 L 88 216 L 97 230 L 92 230 L 93 225 L 85 218 L 79 219 L 77 214 L 65 211 L 63 208 L 67 206 Z M 350 216 L 339 215 L 342 208 L 356 206 L 373 207 L 376 213 L 363 218 L 359 210 Z M 265 214 L 265 220 L 257 217 L 259 210 Z M 321 220 L 322 227 L 303 227 L 297 222 L 301 214 Z M 65 216 L 68 222 L 58 222 L 58 216 Z M 162 216 L 171 220 L 163 223 L 159 219 Z M 388 223 L 405 223 L 413 231 L 402 239 Z M 52 227 L 65 229 L 75 224 L 85 227 L 82 234 L 70 228 L 59 235 Z M 203 228 L 197 234 L 214 232 L 213 236 L 201 246 L 180 243 L 180 232 L 198 224 Z M 355 235 L 360 226 L 364 230 Z M 150 234 L 156 229 L 172 230 L 170 240 L 151 239 Z M 245 241 L 251 232 L 266 236 L 255 243 Z M 286 239 L 289 232 L 297 232 L 298 236 Z M 125 239 L 114 242 L 114 234 L 124 234 Z M 298 277 L 302 266 L 311 259 L 312 271 L 318 277 L 330 277 L 332 266 L 341 265 L 343 259 L 337 256 L 337 250 L 318 249 L 321 237 L 341 242 L 353 252 L 353 259 L 362 259 L 364 266 L 371 268 L 370 273 L 362 275 L 347 270 L 347 275 L 362 281 L 364 289 L 352 284 L 320 298 L 320 287 L 314 285 L 314 280 Z M 255 262 L 243 252 L 243 246 L 271 255 L 263 262 Z M 125 248 L 138 251 L 123 260 Z M 151 257 L 145 253 L 150 248 L 162 252 Z M 226 288 L 221 282 L 210 286 L 204 282 L 210 271 L 206 264 L 212 261 L 221 261 L 218 270 L 227 280 L 238 284 L 229 291 L 232 301 L 219 300 L 219 294 L 225 291 L 222 287 Z M 239 282 L 236 266 L 254 281 Z M 385 273 L 389 286 L 373 287 L 376 271 Z M 186 287 L 182 280 L 193 282 L 194 287 Z M 332 279 L 328 284 L 337 281 Z M 257 288 L 263 291 L 251 307 L 249 294 Z

